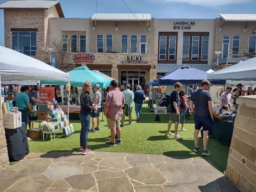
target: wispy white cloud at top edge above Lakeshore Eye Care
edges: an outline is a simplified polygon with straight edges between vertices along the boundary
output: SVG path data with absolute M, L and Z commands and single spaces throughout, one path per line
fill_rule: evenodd
M 234 4 L 242 4 L 244 2 L 248 2 L 251 0 L 148 0 L 148 1 L 159 1 L 161 3 L 164 2 L 178 2 L 178 3 L 188 3 L 191 5 L 201 5 L 201 6 L 222 6 L 222 5 L 234 5 Z

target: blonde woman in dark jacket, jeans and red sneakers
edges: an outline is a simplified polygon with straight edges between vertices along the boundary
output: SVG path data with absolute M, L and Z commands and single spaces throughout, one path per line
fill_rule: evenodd
M 98 109 L 98 106 L 92 104 L 91 102 L 90 92 L 91 83 L 90 81 L 85 81 L 82 85 L 82 91 L 80 95 L 81 110 L 79 113 L 79 118 L 81 121 L 79 150 L 82 151 L 83 155 L 91 153 L 91 149 L 88 149 L 87 146 L 88 132 L 90 129 L 90 114 L 92 111 L 96 111 Z

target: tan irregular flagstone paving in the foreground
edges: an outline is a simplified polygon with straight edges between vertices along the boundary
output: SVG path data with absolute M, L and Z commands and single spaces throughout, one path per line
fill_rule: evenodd
M 97 151 L 30 153 L 0 183 L 0 192 L 239 192 L 209 160 Z

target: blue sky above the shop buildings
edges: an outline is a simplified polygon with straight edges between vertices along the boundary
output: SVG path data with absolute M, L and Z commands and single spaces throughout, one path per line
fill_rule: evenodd
M 0 4 L 8 0 L 0 0 Z M 216 18 L 220 13 L 256 14 L 255 0 L 123 0 L 133 13 L 154 18 Z M 65 17 L 89 18 L 96 0 L 60 0 Z M 130 13 L 122 0 L 98 0 L 98 13 Z M 0 46 L 4 46 L 4 10 L 0 10 Z

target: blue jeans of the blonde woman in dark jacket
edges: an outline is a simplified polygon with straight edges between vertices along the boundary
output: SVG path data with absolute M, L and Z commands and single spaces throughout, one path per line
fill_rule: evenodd
M 90 128 L 90 115 L 79 113 L 79 118 L 81 121 L 80 146 L 82 146 L 83 149 L 87 149 L 88 132 Z

